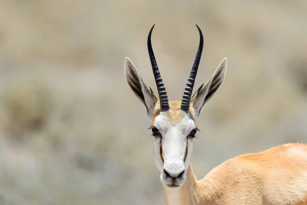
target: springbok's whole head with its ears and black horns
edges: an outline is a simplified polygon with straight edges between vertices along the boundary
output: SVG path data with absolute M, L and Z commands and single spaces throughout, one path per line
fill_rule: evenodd
M 196 25 L 200 33 L 200 45 L 183 98 L 181 101 L 169 102 L 151 47 L 153 27 L 148 35 L 147 46 L 159 99 L 143 81 L 136 67 L 127 57 L 125 59 L 125 77 L 134 94 L 141 100 L 147 116 L 151 120 L 150 129 L 154 141 L 153 153 L 156 166 L 161 172 L 161 181 L 167 187 L 178 188 L 185 182 L 185 171 L 190 165 L 193 138 L 198 131 L 196 120 L 200 117 L 204 105 L 222 84 L 226 74 L 227 59 L 224 58 L 207 83 L 192 94 L 204 42 L 203 34 Z

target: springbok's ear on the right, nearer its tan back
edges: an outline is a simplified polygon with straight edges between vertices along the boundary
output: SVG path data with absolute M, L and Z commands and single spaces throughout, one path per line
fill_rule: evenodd
M 195 111 L 195 119 L 200 117 L 203 111 L 204 105 L 214 95 L 216 90 L 222 85 L 227 70 L 227 58 L 224 58 L 220 66 L 217 67 L 213 75 L 202 85 L 198 90 L 194 92 L 191 97 L 191 104 Z

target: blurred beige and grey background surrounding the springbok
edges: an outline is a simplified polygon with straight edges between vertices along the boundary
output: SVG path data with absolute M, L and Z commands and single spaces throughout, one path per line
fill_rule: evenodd
M 164 204 L 150 121 L 124 78 L 128 56 L 170 100 L 224 57 L 192 165 L 307 142 L 307 1 L 0 1 L 0 204 Z

